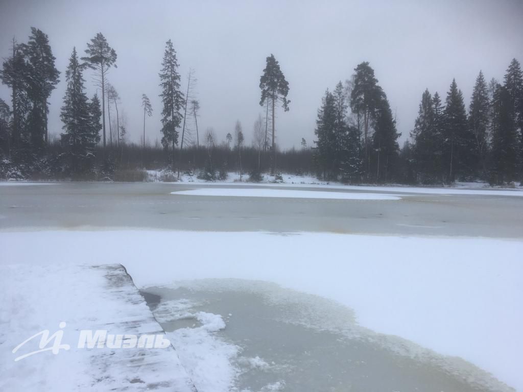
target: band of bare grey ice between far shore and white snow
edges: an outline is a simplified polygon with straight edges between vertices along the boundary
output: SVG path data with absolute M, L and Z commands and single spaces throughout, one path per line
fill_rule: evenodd
M 0 228 L 139 227 L 523 238 L 523 197 L 506 197 L 496 191 L 477 195 L 410 193 L 408 188 L 396 188 L 392 193 L 380 188 L 347 189 L 353 194 L 395 193 L 400 200 L 170 194 L 199 188 L 231 185 L 57 183 L 0 187 Z M 343 192 L 321 186 L 263 188 Z

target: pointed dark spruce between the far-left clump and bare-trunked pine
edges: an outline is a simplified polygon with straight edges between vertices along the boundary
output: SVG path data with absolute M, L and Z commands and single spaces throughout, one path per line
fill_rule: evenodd
M 74 48 L 65 72 L 67 88 L 60 115 L 64 124 L 62 143 L 66 149 L 67 164 L 74 175 L 92 169 L 94 148 L 99 140 L 99 125 L 96 124 L 99 107 L 94 109 L 97 98 L 95 103 L 89 105 L 84 88 L 84 68 L 85 66 L 78 62 Z

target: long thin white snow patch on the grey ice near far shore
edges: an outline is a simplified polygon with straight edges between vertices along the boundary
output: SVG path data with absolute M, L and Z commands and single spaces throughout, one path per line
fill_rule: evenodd
M 226 196 L 251 198 L 296 198 L 296 199 L 338 199 L 338 200 L 400 200 L 397 195 L 383 193 L 360 192 L 322 192 L 290 189 L 238 189 L 238 188 L 206 188 L 170 192 L 170 194 L 188 196 Z

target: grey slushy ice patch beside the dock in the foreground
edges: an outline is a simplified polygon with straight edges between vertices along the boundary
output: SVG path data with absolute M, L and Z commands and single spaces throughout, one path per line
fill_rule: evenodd
M 359 327 L 350 308 L 274 284 L 196 281 L 174 289 L 149 287 L 142 294 L 182 363 L 195 362 L 190 366 L 196 373 L 192 378 L 208 378 L 203 386 L 217 381 L 212 372 L 198 373 L 199 366 L 212 366 L 191 349 L 195 339 L 207 341 L 201 331 L 191 333 L 202 328 L 195 317 L 200 312 L 220 315 L 225 321 L 224 329 L 212 333 L 219 343 L 209 344 L 209 351 L 228 356 L 234 366 L 234 390 L 477 392 L 496 388 L 495 383 L 488 385 L 485 372 L 465 361 L 378 335 Z

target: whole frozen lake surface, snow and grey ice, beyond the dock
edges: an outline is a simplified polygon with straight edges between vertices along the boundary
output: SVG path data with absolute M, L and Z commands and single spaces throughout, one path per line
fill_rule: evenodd
M 511 390 L 472 363 L 520 384 L 513 294 L 521 274 L 511 271 L 519 271 L 523 197 L 427 191 L 14 185 L 0 187 L 0 230 L 6 261 L 76 255 L 78 263 L 125 266 L 187 371 L 200 372 L 195 383 L 223 384 L 202 391 L 229 390 L 231 380 L 236 391 L 263 392 Z M 442 238 L 457 236 L 469 239 Z M 48 246 L 55 241 L 62 245 Z M 206 278 L 212 284 L 194 281 Z M 189 281 L 170 284 L 180 279 Z M 199 362 L 206 358 L 219 366 Z M 201 373 L 209 368 L 218 370 Z

